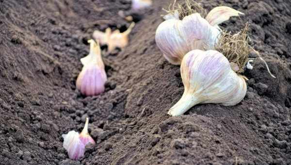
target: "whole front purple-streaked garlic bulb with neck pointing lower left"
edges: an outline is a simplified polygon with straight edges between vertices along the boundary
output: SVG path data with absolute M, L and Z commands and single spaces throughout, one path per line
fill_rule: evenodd
M 178 116 L 199 103 L 239 103 L 246 94 L 245 77 L 237 75 L 226 57 L 216 50 L 192 50 L 181 63 L 182 98 L 168 114 Z

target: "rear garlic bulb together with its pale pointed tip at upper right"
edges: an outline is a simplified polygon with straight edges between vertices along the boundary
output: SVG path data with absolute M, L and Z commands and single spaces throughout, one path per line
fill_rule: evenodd
M 166 20 L 159 25 L 155 36 L 157 46 L 170 63 L 179 65 L 183 56 L 193 49 L 214 49 L 221 33 L 217 25 L 228 20 L 230 16 L 242 14 L 221 6 L 212 9 L 206 19 L 199 13 L 194 13 L 179 20 L 176 10 L 163 16 Z

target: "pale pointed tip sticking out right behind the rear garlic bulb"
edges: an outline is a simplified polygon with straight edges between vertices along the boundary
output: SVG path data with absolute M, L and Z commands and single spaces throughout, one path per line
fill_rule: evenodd
M 212 26 L 217 26 L 220 23 L 227 21 L 231 16 L 240 16 L 244 15 L 242 12 L 237 11 L 233 8 L 227 6 L 219 6 L 213 8 L 208 15 L 206 16 L 206 20 Z

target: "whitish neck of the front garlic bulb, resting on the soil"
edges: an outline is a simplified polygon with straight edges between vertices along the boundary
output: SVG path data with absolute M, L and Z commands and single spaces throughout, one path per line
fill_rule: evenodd
M 197 97 L 184 92 L 182 98 L 169 110 L 168 115 L 183 115 L 186 111 L 198 103 L 200 103 L 200 100 Z

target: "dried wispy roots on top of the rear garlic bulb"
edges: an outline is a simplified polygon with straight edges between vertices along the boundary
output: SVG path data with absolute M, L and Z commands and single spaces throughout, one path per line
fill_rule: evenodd
M 194 13 L 199 13 L 203 18 L 205 18 L 207 15 L 206 10 L 194 0 L 185 0 L 185 2 L 182 4 L 176 4 L 176 1 L 177 0 L 174 0 L 174 3 L 169 5 L 168 10 L 163 10 L 167 13 L 173 14 L 175 10 L 178 10 L 179 19 L 183 19 L 185 16 L 189 16 Z

